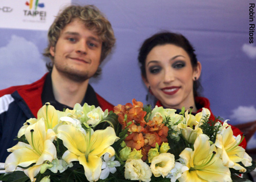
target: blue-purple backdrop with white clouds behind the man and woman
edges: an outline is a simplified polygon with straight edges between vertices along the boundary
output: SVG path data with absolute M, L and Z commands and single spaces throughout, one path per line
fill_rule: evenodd
M 29 29 L 28 26 L 6 28 L 4 15 L 12 13 L 3 11 L 3 7 L 12 7 L 6 2 L 12 2 L 14 7 L 20 1 L 0 0 L 0 89 L 39 79 L 46 73 L 47 61 L 41 55 L 47 46 L 47 31 L 34 30 L 39 27 L 36 25 Z M 26 0 L 22 2 L 20 9 L 28 10 Z M 44 3 L 45 9 L 50 8 L 49 12 L 63 6 L 52 2 L 38 1 Z M 230 119 L 233 125 L 256 120 L 256 33 L 254 43 L 249 43 L 249 24 L 256 21 L 255 18 L 249 22 L 249 3 L 255 1 L 73 0 L 72 3 L 96 5 L 112 23 L 116 46 L 101 65 L 102 75 L 90 80 L 96 92 L 112 104 L 125 104 L 133 98 L 145 103 L 146 87 L 140 77 L 138 49 L 148 36 L 169 30 L 184 34 L 194 45 L 202 63 L 202 95 L 210 100 L 214 114 Z M 47 13 L 47 18 L 50 16 L 53 15 Z M 47 30 L 49 25 L 44 28 Z M 256 147 L 255 134 L 248 147 Z

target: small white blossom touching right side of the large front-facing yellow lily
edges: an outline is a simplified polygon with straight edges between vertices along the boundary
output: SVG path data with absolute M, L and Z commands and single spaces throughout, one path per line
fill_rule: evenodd
M 105 179 L 109 176 L 110 172 L 114 174 L 116 172 L 116 167 L 120 166 L 120 162 L 114 161 L 115 156 L 110 157 L 109 153 L 105 153 L 102 158 L 101 174 L 100 179 Z

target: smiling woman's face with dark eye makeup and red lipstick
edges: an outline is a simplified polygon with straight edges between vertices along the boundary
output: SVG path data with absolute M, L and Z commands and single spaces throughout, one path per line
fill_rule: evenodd
M 157 45 L 145 61 L 146 86 L 166 108 L 195 107 L 193 80 L 201 73 L 201 64 L 193 68 L 186 51 L 173 44 Z

